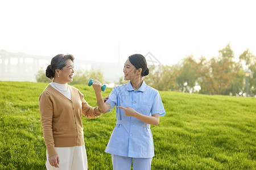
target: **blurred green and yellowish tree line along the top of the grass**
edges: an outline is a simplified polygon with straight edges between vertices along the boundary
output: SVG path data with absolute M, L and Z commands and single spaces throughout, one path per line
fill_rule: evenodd
M 159 91 L 178 91 L 208 95 L 246 94 L 245 71 L 250 70 L 249 95 L 256 95 L 256 56 L 246 49 L 236 61 L 230 44 L 218 51 L 218 56 L 209 60 L 204 56 L 195 58 L 193 55 L 181 59 L 175 65 L 150 66 L 150 74 L 144 77 L 146 83 Z M 69 84 L 88 84 L 88 80 L 104 80 L 100 70 L 78 70 L 76 78 Z M 37 82 L 51 82 L 46 78 L 43 69 L 36 75 Z M 123 84 L 123 76 L 117 84 Z

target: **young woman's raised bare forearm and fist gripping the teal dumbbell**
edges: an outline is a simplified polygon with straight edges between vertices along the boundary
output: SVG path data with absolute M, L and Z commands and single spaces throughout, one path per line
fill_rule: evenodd
M 100 109 L 101 113 L 106 113 L 110 110 L 111 106 L 108 103 L 104 102 L 104 99 L 102 99 L 101 96 L 101 82 L 98 80 L 94 80 L 93 82 L 93 89 L 95 91 L 96 99 L 97 99 L 97 105 Z

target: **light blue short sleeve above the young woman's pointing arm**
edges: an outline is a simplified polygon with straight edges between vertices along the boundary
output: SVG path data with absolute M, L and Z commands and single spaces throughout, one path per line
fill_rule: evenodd
M 156 91 L 154 101 L 151 107 L 151 114 L 157 114 L 157 113 L 159 113 L 160 117 L 166 114 L 166 111 L 164 110 L 164 107 L 163 107 L 162 99 L 158 91 Z

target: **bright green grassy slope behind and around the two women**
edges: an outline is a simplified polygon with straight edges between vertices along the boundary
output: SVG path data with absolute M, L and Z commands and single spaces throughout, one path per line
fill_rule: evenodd
M 46 169 L 38 98 L 46 83 L 0 82 L 0 169 Z M 92 87 L 75 86 L 91 106 Z M 109 95 L 107 88 L 102 96 Z M 151 126 L 151 169 L 256 169 L 256 99 L 160 92 L 166 116 Z M 83 117 L 88 169 L 112 169 L 104 152 L 115 110 Z

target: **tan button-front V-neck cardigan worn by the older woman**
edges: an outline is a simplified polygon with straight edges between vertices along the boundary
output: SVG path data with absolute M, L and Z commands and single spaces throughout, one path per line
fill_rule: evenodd
M 71 100 L 49 84 L 39 97 L 44 142 L 49 157 L 57 155 L 55 147 L 84 145 L 81 114 L 88 118 L 101 115 L 98 107 L 90 107 L 77 88 L 69 87 Z

